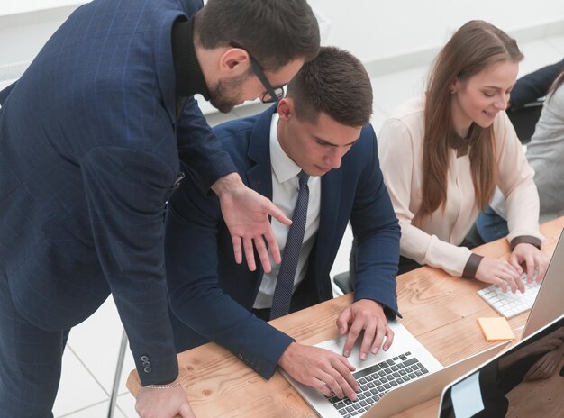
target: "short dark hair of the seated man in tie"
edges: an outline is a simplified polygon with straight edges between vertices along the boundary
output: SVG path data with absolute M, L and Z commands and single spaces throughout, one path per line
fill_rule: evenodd
M 287 86 L 299 120 L 315 123 L 320 112 L 347 126 L 364 126 L 372 114 L 372 85 L 349 51 L 322 47 Z

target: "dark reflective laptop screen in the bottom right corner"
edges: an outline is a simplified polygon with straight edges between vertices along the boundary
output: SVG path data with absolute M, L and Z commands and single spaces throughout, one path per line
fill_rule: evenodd
M 563 366 L 564 315 L 447 386 L 440 417 L 562 416 Z

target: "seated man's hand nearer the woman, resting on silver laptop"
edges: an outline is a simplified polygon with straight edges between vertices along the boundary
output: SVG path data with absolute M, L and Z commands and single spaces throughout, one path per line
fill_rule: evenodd
M 369 299 L 360 299 L 343 309 L 337 318 L 337 327 L 341 335 L 347 335 L 342 355 L 349 357 L 355 341 L 360 332 L 364 331 L 362 345 L 360 346 L 360 359 L 365 360 L 368 350 L 376 354 L 380 346 L 384 351 L 394 342 L 394 332 L 387 326 L 384 308 L 378 302 Z

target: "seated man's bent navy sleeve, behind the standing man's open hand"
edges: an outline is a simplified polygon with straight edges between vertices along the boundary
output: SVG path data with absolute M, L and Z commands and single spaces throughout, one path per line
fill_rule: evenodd
M 220 259 L 234 263 L 232 252 L 221 253 L 219 241 L 229 236 L 222 233 L 225 228 L 217 197 L 202 195 L 196 190 L 195 180 L 186 178 L 173 195 L 167 213 L 165 251 L 170 306 L 188 327 L 269 378 L 293 340 L 259 320 L 219 286 Z M 231 248 L 231 242 L 224 247 Z M 249 274 L 244 264 L 238 267 L 241 275 Z M 237 276 L 224 278 L 238 280 Z

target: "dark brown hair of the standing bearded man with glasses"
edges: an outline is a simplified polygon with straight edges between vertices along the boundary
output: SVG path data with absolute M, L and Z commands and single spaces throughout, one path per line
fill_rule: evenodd
M 203 48 L 241 45 L 273 72 L 319 50 L 319 26 L 305 0 L 209 0 L 194 26 Z

